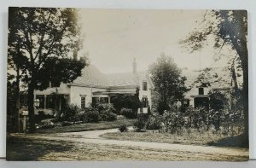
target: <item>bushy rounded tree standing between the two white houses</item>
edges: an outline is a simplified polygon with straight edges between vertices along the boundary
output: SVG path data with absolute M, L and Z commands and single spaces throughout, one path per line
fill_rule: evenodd
M 181 76 L 181 69 L 172 57 L 160 55 L 157 61 L 149 66 L 149 72 L 152 75 L 154 89 L 159 95 L 159 113 L 168 110 L 174 101 L 183 99 L 183 93 L 188 91 L 184 85 L 186 78 Z

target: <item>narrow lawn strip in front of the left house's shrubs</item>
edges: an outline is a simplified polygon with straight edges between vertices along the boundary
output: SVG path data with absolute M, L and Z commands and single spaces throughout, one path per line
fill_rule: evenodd
M 99 123 L 84 123 L 80 125 L 58 126 L 52 129 L 40 129 L 38 133 L 63 133 L 63 132 L 79 132 L 87 130 L 107 130 L 119 128 L 120 125 L 131 126 L 135 119 L 118 119 L 116 121 L 102 121 Z

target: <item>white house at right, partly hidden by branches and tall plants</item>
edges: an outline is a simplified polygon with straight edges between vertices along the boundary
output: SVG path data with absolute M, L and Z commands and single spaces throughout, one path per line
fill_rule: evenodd
M 210 90 L 229 93 L 235 88 L 241 88 L 241 69 L 236 69 L 236 72 L 231 70 L 230 67 L 210 67 L 204 70 L 183 69 L 183 76 L 187 77 L 185 84 L 190 90 L 184 94 L 184 101 L 181 104 L 209 107 Z

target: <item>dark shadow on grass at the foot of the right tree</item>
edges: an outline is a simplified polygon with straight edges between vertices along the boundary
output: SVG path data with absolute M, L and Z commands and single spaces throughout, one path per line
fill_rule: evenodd
M 215 142 L 208 142 L 209 146 L 230 147 L 230 148 L 249 148 L 244 136 L 225 137 Z

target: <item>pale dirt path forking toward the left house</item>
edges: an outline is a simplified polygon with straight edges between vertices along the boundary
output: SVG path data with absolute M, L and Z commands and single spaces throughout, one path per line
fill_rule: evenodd
M 131 128 L 130 128 L 131 130 Z M 188 154 L 193 158 L 193 154 L 201 154 L 215 157 L 225 158 L 247 158 L 248 150 L 244 148 L 219 148 L 219 147 L 208 147 L 208 146 L 195 146 L 195 145 L 183 145 L 183 144 L 170 144 L 170 143 L 159 143 L 159 142 L 131 142 L 131 141 L 119 141 L 119 140 L 109 140 L 100 137 L 102 134 L 108 132 L 116 132 L 117 129 L 110 130 L 91 130 L 83 132 L 70 132 L 70 133 L 59 133 L 55 135 L 28 135 L 26 138 L 36 138 L 44 140 L 55 140 L 64 142 L 74 142 L 80 146 L 87 146 L 88 144 L 108 146 L 109 148 L 136 148 L 140 151 L 154 150 L 158 152 L 172 152 L 179 154 Z M 13 135 L 14 136 L 14 135 Z M 24 135 L 15 135 L 24 136 Z M 171 153 L 170 153 L 171 154 Z M 183 157 L 183 156 L 180 156 Z M 114 159 L 114 158 L 113 158 Z

